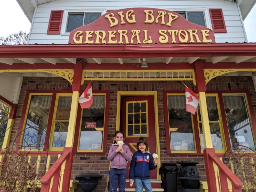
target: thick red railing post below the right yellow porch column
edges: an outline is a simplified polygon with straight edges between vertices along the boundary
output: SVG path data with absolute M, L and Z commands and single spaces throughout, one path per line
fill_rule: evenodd
M 208 191 L 209 192 L 217 192 L 215 172 L 214 172 L 214 168 L 213 168 L 213 161 L 208 156 L 209 153 L 215 153 L 215 149 L 206 148 L 203 150 Z

